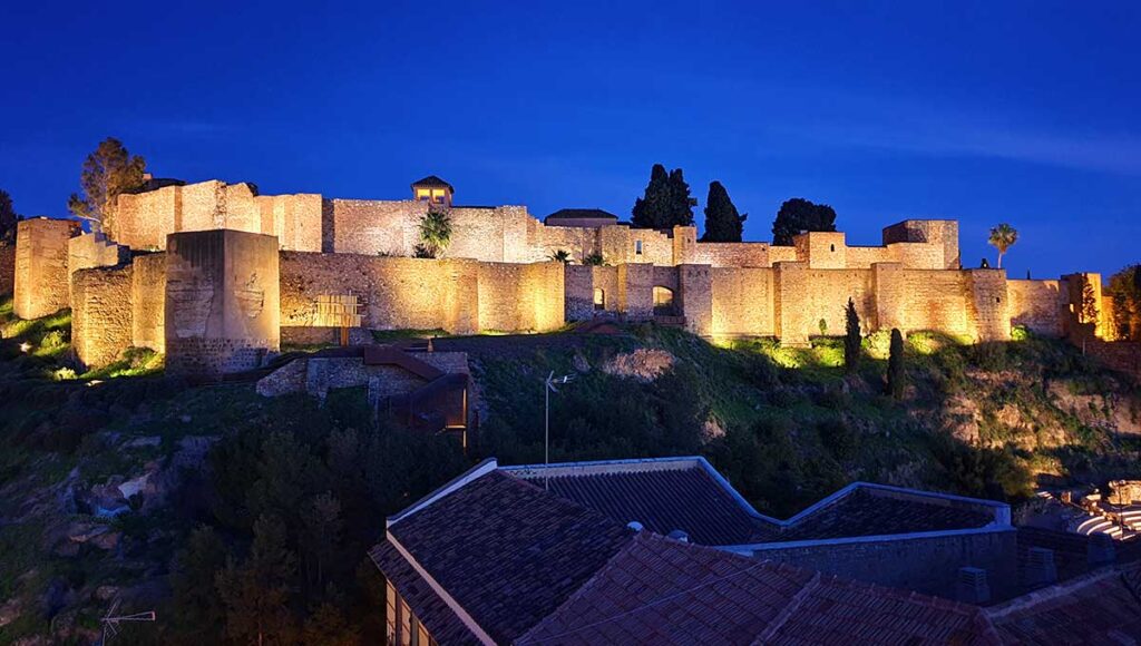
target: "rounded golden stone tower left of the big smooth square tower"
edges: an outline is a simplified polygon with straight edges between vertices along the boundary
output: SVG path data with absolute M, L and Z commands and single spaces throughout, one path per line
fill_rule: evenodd
M 72 348 L 88 368 L 113 363 L 131 346 L 131 266 L 75 272 Z

